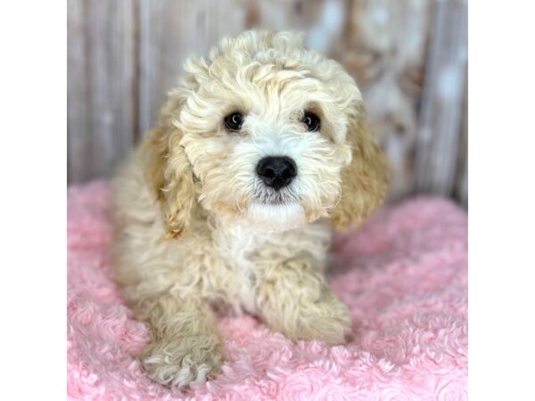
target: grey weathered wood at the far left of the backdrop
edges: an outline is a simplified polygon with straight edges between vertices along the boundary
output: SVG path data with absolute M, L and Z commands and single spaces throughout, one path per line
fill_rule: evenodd
M 72 0 L 68 20 L 69 181 L 109 176 L 132 147 L 133 8 Z

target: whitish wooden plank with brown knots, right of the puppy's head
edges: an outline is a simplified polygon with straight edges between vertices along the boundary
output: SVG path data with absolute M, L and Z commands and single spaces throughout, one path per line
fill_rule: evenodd
M 367 118 L 391 164 L 390 197 L 413 191 L 429 1 L 352 2 L 342 64 L 357 80 Z

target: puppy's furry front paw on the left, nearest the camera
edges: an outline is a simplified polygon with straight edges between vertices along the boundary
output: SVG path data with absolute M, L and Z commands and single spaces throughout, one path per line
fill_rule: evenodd
M 141 362 L 153 381 L 184 388 L 213 378 L 223 364 L 223 352 L 212 336 L 162 339 L 144 348 Z

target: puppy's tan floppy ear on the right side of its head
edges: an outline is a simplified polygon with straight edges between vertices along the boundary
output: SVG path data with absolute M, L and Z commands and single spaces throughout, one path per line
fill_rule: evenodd
M 347 141 L 350 165 L 342 169 L 342 195 L 331 212 L 335 228 L 358 224 L 384 201 L 389 169 L 364 119 L 364 107 L 355 102 L 350 112 Z

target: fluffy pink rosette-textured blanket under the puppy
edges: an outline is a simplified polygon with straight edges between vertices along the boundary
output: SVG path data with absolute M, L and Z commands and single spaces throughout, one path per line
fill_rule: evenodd
M 70 399 L 466 399 L 467 219 L 449 201 L 406 201 L 335 239 L 330 282 L 353 316 L 349 344 L 293 344 L 250 316 L 221 318 L 222 373 L 180 392 L 132 356 L 147 329 L 111 281 L 107 183 L 68 196 Z

